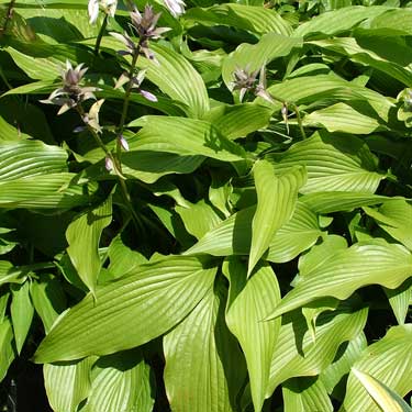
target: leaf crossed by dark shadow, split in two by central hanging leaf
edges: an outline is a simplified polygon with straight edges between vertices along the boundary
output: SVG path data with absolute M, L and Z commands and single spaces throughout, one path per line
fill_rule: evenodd
M 185 254 L 247 255 L 250 249 L 255 210 L 255 207 L 250 207 L 227 218 Z M 316 214 L 298 201 L 289 222 L 270 240 L 265 258 L 276 263 L 289 261 L 311 247 L 321 234 Z

